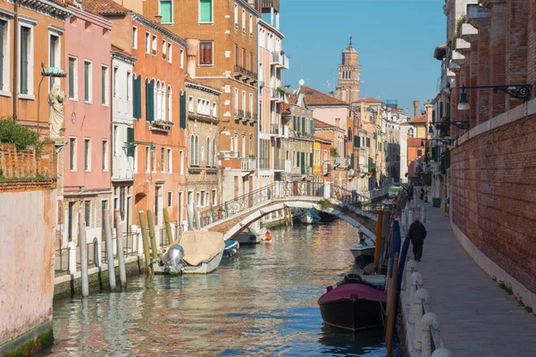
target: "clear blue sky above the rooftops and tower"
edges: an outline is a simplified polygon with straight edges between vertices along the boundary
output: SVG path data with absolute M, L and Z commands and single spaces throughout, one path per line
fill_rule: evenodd
M 283 82 L 328 93 L 337 81 L 341 52 L 353 36 L 361 65 L 361 97 L 396 99 L 410 109 L 437 94 L 445 42 L 444 0 L 281 0 L 283 50 L 290 70 Z M 335 83 L 333 83 L 335 79 Z

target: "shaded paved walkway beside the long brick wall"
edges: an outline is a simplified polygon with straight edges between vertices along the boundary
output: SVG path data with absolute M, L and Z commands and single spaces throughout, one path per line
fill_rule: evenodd
M 445 347 L 455 357 L 536 356 L 536 316 L 473 262 L 440 208 L 421 204 L 428 236 L 419 272 Z

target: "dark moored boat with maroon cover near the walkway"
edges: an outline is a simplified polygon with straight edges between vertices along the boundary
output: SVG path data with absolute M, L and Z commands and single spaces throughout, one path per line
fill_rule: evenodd
M 360 276 L 348 274 L 338 286 L 327 289 L 318 299 L 327 325 L 356 332 L 383 323 L 387 294 Z

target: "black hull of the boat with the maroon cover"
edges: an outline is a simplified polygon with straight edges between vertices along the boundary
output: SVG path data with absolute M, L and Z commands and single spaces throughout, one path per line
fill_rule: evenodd
M 385 303 L 344 299 L 319 304 L 322 320 L 334 328 L 356 332 L 376 328 L 383 323 L 381 309 L 385 310 Z

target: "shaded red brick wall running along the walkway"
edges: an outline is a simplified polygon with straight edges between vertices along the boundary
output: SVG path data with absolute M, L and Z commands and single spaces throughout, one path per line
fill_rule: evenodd
M 453 221 L 536 293 L 536 115 L 452 149 Z

